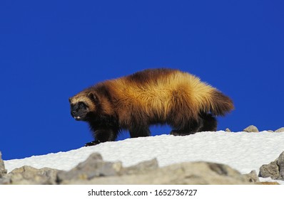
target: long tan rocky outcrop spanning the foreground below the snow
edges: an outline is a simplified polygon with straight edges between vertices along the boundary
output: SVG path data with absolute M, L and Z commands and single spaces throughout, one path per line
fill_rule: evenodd
M 71 171 L 23 166 L 0 178 L 0 184 L 250 184 L 258 182 L 255 173 L 242 175 L 219 163 L 177 163 L 163 168 L 153 159 L 136 166 L 103 161 L 91 154 Z

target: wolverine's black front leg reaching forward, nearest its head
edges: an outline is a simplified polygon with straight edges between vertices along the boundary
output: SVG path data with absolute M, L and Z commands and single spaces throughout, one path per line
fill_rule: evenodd
M 99 128 L 93 132 L 94 141 L 88 142 L 85 146 L 93 146 L 106 141 L 115 141 L 118 135 L 118 130 L 112 128 Z

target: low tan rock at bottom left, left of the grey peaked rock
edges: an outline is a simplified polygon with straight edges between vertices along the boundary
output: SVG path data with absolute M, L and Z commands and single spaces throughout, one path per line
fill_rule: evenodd
M 53 168 L 34 168 L 22 166 L 15 168 L 5 176 L 4 184 L 16 185 L 49 185 L 56 184 L 56 174 L 59 170 Z

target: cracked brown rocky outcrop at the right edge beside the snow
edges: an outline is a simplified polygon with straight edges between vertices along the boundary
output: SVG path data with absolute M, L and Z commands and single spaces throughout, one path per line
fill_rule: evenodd
M 284 152 L 275 161 L 261 166 L 258 176 L 284 181 Z

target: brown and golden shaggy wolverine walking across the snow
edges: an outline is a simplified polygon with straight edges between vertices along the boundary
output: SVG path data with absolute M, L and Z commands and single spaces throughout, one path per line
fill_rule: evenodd
M 171 134 L 216 131 L 216 116 L 233 110 L 233 101 L 195 75 L 159 68 L 106 80 L 69 98 L 71 115 L 88 122 L 91 146 L 115 141 L 121 130 L 131 138 L 150 136 L 153 124 L 168 124 Z

